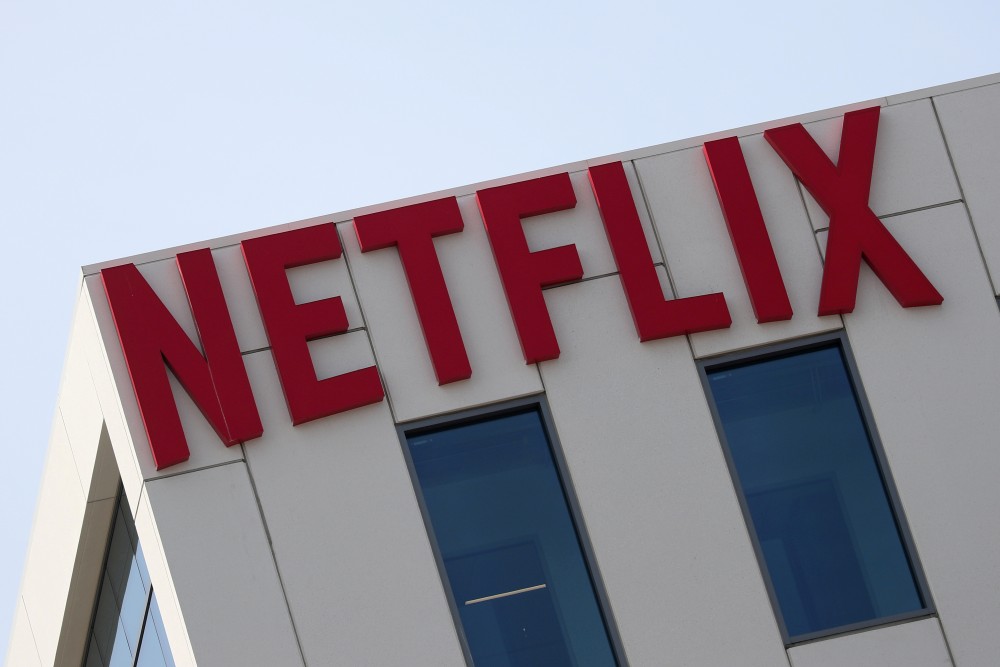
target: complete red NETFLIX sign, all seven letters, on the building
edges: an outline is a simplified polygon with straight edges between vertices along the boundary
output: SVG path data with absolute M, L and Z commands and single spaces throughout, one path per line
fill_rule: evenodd
M 901 307 L 942 302 L 941 294 L 869 208 L 878 123 L 878 107 L 845 114 L 836 163 L 800 124 L 764 132 L 767 143 L 830 218 L 817 295 L 819 315 L 854 309 L 862 261 Z M 739 140 L 711 141 L 703 152 L 757 322 L 791 319 L 795 313 Z M 646 342 L 729 327 L 732 319 L 722 293 L 664 298 L 622 164 L 591 167 L 588 176 L 638 339 Z M 537 216 L 574 208 L 577 194 L 569 174 L 561 173 L 485 188 L 475 195 L 528 364 L 559 357 L 558 336 L 542 289 L 580 280 L 583 267 L 572 244 L 530 250 L 524 226 Z M 475 370 L 434 241 L 461 234 L 464 226 L 455 197 L 354 219 L 362 253 L 395 249 L 427 355 L 442 385 L 467 380 Z M 243 241 L 241 248 L 292 423 L 381 401 L 385 391 L 374 366 L 317 378 L 307 343 L 345 332 L 351 323 L 340 297 L 296 303 L 289 285 L 290 268 L 342 260 L 334 224 L 253 238 Z M 235 304 L 226 302 L 211 251 L 178 254 L 177 270 L 200 349 L 133 264 L 101 271 L 158 469 L 181 463 L 189 455 L 168 367 L 227 446 L 263 433 L 230 317 L 230 305 Z

